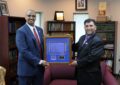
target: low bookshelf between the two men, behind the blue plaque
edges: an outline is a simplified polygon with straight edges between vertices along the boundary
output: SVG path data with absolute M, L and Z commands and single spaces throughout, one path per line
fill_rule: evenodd
M 74 21 L 47 21 L 48 35 L 70 35 L 75 41 L 75 22 Z M 74 53 L 73 53 L 74 58 Z

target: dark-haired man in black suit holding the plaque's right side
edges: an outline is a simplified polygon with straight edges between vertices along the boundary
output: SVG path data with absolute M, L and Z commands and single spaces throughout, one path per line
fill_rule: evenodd
M 73 45 L 73 50 L 77 50 L 78 55 L 71 65 L 76 66 L 77 85 L 101 85 L 100 58 L 104 54 L 104 45 L 95 33 L 95 20 L 85 20 L 84 26 L 86 34 Z

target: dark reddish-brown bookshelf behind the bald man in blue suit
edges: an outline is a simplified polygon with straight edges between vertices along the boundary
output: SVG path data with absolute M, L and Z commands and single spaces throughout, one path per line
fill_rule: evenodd
M 15 44 L 16 30 L 25 23 L 22 17 L 0 16 L 0 65 L 5 67 L 6 83 L 17 85 L 17 48 Z

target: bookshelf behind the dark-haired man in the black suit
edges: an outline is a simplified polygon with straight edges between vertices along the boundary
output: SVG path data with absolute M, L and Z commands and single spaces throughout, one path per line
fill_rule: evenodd
M 115 21 L 97 22 L 97 34 L 104 42 L 105 54 L 102 56 L 102 60 L 106 61 L 112 72 L 115 60 L 116 30 L 117 22 Z

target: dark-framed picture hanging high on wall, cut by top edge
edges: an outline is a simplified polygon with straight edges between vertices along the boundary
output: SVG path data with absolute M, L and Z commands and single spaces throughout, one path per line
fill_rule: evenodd
M 87 10 L 87 0 L 75 0 L 76 10 Z

